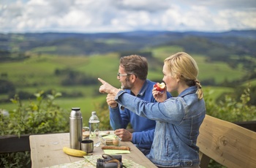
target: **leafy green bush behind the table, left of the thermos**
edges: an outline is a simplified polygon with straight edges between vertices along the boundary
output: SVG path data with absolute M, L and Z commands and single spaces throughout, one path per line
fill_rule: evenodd
M 34 94 L 36 102 L 23 104 L 16 95 L 12 103 L 17 108 L 9 115 L 0 113 L 1 136 L 16 134 L 48 134 L 69 131 L 69 112 L 63 110 L 54 100 L 61 93 L 48 94 L 43 92 Z M 34 99 L 33 99 L 34 100 Z M 0 167 L 31 167 L 30 152 L 4 153 L 0 155 Z

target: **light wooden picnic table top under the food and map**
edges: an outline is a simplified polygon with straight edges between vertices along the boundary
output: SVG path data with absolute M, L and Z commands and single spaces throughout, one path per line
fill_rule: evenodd
M 69 147 L 69 133 L 38 134 L 29 136 L 31 148 L 32 167 L 51 167 L 59 164 L 72 163 L 84 158 L 68 156 L 63 152 L 64 146 Z M 129 154 L 121 154 L 124 159 L 129 159 L 144 167 L 156 167 L 132 142 L 121 142 L 121 146 L 129 146 Z M 93 155 L 102 155 L 101 146 L 94 148 Z

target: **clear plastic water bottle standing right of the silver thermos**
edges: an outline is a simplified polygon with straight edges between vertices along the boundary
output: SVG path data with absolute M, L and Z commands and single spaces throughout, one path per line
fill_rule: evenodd
M 100 145 L 99 140 L 99 118 L 96 112 L 91 112 L 91 118 L 89 118 L 89 129 L 90 129 L 90 139 L 94 141 L 94 147 Z

